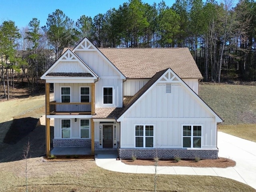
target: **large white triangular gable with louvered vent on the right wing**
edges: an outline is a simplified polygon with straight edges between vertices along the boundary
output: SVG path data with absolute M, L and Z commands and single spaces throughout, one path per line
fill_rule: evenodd
M 124 118 L 216 118 L 216 122 L 222 122 L 221 118 L 170 68 L 151 82 L 146 91 L 138 92 L 135 97 L 136 101 L 130 104 L 118 121 Z

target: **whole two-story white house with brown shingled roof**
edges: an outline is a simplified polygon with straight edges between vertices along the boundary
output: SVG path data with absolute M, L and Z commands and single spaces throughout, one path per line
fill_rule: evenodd
M 54 118 L 53 147 L 116 149 L 120 158 L 218 157 L 222 119 L 198 96 L 202 75 L 188 48 L 96 48 L 84 38 L 41 78 L 48 154 Z

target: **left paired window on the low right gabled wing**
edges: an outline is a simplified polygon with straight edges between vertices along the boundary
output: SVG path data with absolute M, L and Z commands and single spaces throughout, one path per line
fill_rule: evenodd
M 154 147 L 154 126 L 135 125 L 135 147 Z

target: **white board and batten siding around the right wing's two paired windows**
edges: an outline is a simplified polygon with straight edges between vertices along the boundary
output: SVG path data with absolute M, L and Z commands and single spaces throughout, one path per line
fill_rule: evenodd
M 154 125 L 155 148 L 182 148 L 182 125 L 202 126 L 202 148 L 216 149 L 215 117 L 181 83 L 158 83 L 121 120 L 121 148 L 135 147 L 135 125 Z

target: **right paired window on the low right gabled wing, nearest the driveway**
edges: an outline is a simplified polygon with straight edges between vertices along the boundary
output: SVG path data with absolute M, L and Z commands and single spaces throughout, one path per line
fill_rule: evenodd
M 183 125 L 183 147 L 201 148 L 202 126 Z

